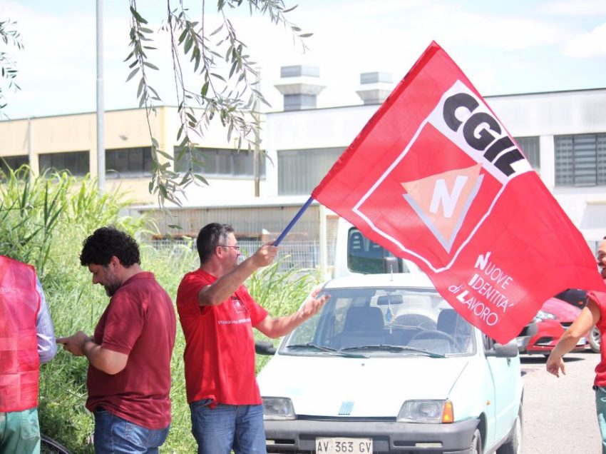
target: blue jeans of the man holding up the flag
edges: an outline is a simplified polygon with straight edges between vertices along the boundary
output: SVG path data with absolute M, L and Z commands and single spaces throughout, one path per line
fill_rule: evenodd
M 266 454 L 263 405 L 222 405 L 210 399 L 190 403 L 198 454 Z

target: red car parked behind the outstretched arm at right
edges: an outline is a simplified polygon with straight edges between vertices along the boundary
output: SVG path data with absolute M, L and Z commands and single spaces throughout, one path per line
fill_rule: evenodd
M 580 312 L 579 308 L 571 306 L 566 301 L 549 298 L 543 303 L 533 320 L 537 325 L 537 333 L 528 340 L 528 345 L 520 353 L 528 353 L 529 355 L 540 353 L 548 356 L 564 331 L 572 325 Z M 586 344 L 587 336 L 584 336 L 580 338 L 572 351 L 585 350 Z

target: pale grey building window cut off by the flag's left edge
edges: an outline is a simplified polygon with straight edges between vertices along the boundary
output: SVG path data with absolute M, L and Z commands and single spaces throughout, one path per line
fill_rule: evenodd
M 345 147 L 278 151 L 278 195 L 309 195 Z

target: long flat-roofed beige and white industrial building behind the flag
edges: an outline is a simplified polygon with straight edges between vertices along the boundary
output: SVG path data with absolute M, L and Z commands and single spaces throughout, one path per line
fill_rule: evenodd
M 176 219 L 160 221 L 184 226 L 195 235 L 207 221 L 232 223 L 247 238 L 279 233 L 312 189 L 371 118 L 394 84 L 388 74 L 361 74 L 357 106 L 317 109 L 324 88 L 319 70 L 287 66 L 277 89 L 284 110 L 262 118 L 260 194 L 255 197 L 252 156 L 237 153 L 226 133 L 212 130 L 198 144 L 207 158 L 201 173 L 210 186 L 188 187 Z M 606 89 L 488 96 L 486 101 L 523 148 L 530 163 L 587 241 L 606 235 Z M 362 104 L 364 103 L 364 104 Z M 173 107 L 158 109 L 152 128 L 167 151 L 175 149 L 178 117 Z M 76 175 L 96 173 L 94 114 L 0 121 L 0 157 L 11 166 L 30 163 L 35 171 L 68 168 Z M 106 182 L 130 188 L 140 211 L 155 211 L 149 182 L 150 138 L 142 109 L 106 113 Z M 131 156 L 132 155 L 132 156 Z M 0 161 L 0 166 L 6 163 Z M 293 238 L 319 238 L 317 204 L 294 228 Z M 324 221 L 324 216 L 323 221 Z M 328 215 L 328 241 L 334 237 L 334 216 Z M 173 232 L 175 233 L 175 232 Z

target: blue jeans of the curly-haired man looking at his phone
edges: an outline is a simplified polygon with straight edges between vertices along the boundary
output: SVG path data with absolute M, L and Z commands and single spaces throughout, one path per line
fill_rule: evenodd
M 169 426 L 170 427 L 170 426 Z M 158 453 L 168 436 L 165 429 L 148 429 L 131 423 L 106 410 L 95 410 L 95 453 Z

